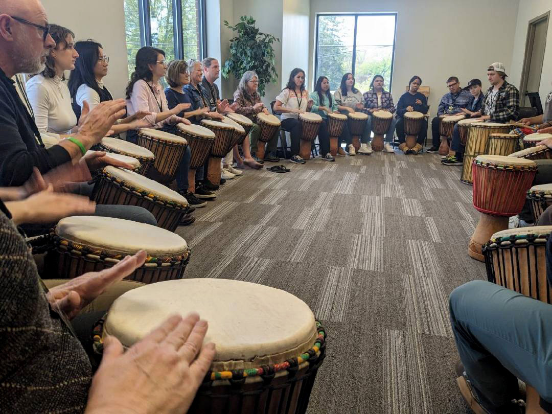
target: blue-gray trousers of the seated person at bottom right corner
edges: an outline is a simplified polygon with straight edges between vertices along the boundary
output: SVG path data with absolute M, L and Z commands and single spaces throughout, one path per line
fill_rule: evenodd
M 517 378 L 552 402 L 552 306 L 483 280 L 450 294 L 450 323 L 472 388 L 491 413 L 519 394 Z

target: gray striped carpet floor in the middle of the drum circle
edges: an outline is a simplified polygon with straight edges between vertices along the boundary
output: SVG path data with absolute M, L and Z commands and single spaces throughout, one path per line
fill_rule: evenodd
M 268 165 L 272 165 L 267 163 Z M 177 230 L 187 278 L 229 278 L 304 300 L 328 334 L 309 413 L 466 413 L 448 319 L 479 216 L 461 167 L 398 152 L 245 171 Z

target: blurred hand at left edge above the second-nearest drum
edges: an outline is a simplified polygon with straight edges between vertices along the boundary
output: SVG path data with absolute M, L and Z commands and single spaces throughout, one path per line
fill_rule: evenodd
M 24 200 L 7 201 L 6 208 L 16 225 L 49 224 L 63 217 L 93 214 L 95 203 L 82 195 L 54 193 L 54 187 L 50 184 L 45 190 Z

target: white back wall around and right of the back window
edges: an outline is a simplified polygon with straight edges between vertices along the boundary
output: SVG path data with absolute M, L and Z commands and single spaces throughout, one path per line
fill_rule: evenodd
M 316 13 L 397 12 L 392 95 L 399 100 L 408 79 L 418 75 L 431 87 L 435 114 L 449 76 L 458 76 L 463 86 L 480 78 L 486 86 L 490 63 L 511 67 L 518 5 L 519 0 L 311 0 L 311 73 Z

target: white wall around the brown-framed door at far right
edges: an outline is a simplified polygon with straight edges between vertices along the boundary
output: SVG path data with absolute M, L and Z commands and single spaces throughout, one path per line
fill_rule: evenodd
M 552 9 L 550 0 L 520 0 L 516 24 L 516 38 L 512 51 L 512 68 L 506 73 L 509 81 L 519 86 L 521 83 L 521 72 L 523 70 L 523 57 L 525 55 L 525 43 L 527 39 L 527 25 L 529 20 L 540 16 Z M 506 68 L 507 69 L 507 68 Z M 550 92 L 552 82 L 552 25 L 548 23 L 546 35 L 546 50 L 544 51 L 543 72 L 540 78 L 540 99 L 544 108 L 546 95 Z M 519 91 L 522 92 L 522 91 Z

